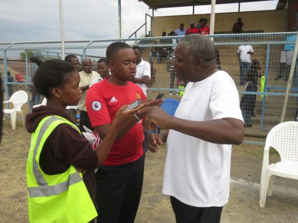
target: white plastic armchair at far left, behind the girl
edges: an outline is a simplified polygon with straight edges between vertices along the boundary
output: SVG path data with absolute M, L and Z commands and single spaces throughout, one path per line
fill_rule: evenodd
M 28 95 L 24 91 L 17 91 L 13 95 L 11 95 L 10 99 L 8 101 L 4 101 L 3 103 L 12 103 L 13 109 L 3 109 L 4 114 L 10 114 L 10 122 L 12 129 L 15 129 L 15 119 L 16 119 L 16 113 L 21 113 L 22 115 L 22 121 L 24 125 L 24 115 L 22 111 L 22 106 L 27 103 L 28 101 Z

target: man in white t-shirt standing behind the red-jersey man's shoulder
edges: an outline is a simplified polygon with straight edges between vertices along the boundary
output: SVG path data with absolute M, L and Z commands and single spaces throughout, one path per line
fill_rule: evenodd
M 141 58 L 142 54 L 139 46 L 133 46 L 133 50 L 136 55 L 137 72 L 132 82 L 142 88 L 144 94 L 147 96 L 146 84 L 148 84 L 148 80 L 151 78 L 150 63 Z

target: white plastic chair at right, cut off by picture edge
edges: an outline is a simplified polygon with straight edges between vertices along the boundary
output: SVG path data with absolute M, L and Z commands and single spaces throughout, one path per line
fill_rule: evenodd
M 276 149 L 281 162 L 269 165 L 269 148 Z M 265 207 L 266 194 L 272 196 L 274 175 L 298 179 L 298 122 L 287 121 L 276 125 L 268 133 L 260 184 L 260 206 Z

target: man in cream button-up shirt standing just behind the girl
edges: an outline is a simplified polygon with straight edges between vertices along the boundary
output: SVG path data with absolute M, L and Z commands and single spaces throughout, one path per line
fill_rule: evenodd
M 85 98 L 87 90 L 95 83 L 102 80 L 102 77 L 97 73 L 96 71 L 93 71 L 92 69 L 92 61 L 90 58 L 86 57 L 82 60 L 82 71 L 79 72 L 80 76 L 80 82 L 79 87 L 83 91 L 82 98 L 78 103 L 78 109 L 79 109 L 79 130 L 81 132 L 84 132 L 85 129 L 83 128 L 83 125 L 87 128 L 94 131 L 92 128 L 87 109 L 85 104 Z

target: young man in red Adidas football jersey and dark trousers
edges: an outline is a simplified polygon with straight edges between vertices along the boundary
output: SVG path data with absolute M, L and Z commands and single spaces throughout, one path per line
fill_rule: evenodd
M 106 58 L 111 77 L 88 90 L 86 107 L 92 126 L 103 139 L 116 112 L 137 99 L 146 100 L 143 90 L 130 82 L 136 75 L 136 55 L 123 42 L 108 46 Z M 160 105 L 161 100 L 144 103 Z M 144 160 L 144 114 L 134 114 L 122 125 L 107 159 L 96 172 L 97 223 L 133 223 L 141 198 Z

